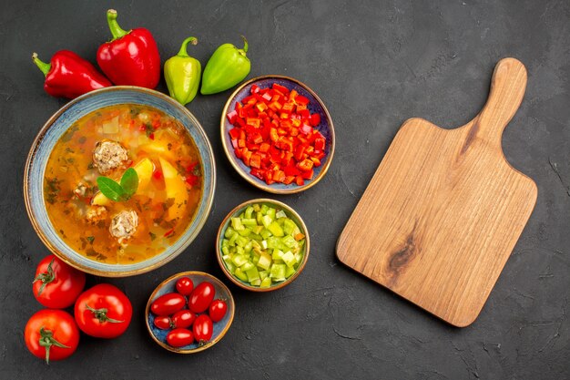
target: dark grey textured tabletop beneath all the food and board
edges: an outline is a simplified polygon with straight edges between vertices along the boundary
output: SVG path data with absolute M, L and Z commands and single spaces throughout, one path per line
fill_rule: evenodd
M 567 1 L 160 3 L 3 2 L 0 377 L 570 378 Z M 205 64 L 219 44 L 248 36 L 250 77 L 296 77 L 328 105 L 336 156 L 317 186 L 276 197 L 299 211 L 311 231 L 310 260 L 300 278 L 269 294 L 230 286 L 237 311 L 227 336 L 201 354 L 170 354 L 146 331 L 148 295 L 176 272 L 221 278 L 213 252 L 219 222 L 239 202 L 267 195 L 241 180 L 223 155 L 219 117 L 229 92 L 198 96 L 188 108 L 218 159 L 208 223 L 175 261 L 109 281 L 133 302 L 127 334 L 114 341 L 82 336 L 70 359 L 46 366 L 23 343 L 25 322 L 40 309 L 30 282 L 48 252 L 25 214 L 22 175 L 37 130 L 65 100 L 43 92 L 30 55 L 47 59 L 68 48 L 95 62 L 97 46 L 109 36 L 109 6 L 117 8 L 122 26 L 147 26 L 163 58 L 193 35 L 200 43 L 191 53 Z M 536 181 L 538 201 L 483 312 L 470 327 L 456 329 L 344 268 L 334 246 L 402 121 L 422 117 L 451 128 L 473 118 L 504 56 L 519 58 L 529 74 L 523 104 L 504 132 L 504 154 Z M 88 277 L 89 284 L 103 281 Z

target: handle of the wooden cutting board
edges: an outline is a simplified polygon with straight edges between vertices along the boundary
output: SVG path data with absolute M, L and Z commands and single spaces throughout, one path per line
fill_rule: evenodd
M 487 103 L 471 124 L 477 137 L 501 147 L 506 125 L 521 105 L 526 88 L 526 68 L 515 58 L 504 58 L 494 67 Z

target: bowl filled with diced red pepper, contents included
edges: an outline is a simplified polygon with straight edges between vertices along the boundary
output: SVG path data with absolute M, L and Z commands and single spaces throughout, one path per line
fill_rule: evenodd
M 261 190 L 307 190 L 331 165 L 331 115 L 310 87 L 291 77 L 256 77 L 241 85 L 226 103 L 220 125 L 229 162 Z

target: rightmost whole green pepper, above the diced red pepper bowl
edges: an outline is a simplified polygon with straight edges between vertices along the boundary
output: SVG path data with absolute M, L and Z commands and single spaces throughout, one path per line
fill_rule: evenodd
M 243 38 L 243 49 L 231 44 L 219 46 L 210 56 L 202 78 L 202 95 L 216 94 L 236 86 L 248 76 L 251 63 L 246 56 L 248 40 Z

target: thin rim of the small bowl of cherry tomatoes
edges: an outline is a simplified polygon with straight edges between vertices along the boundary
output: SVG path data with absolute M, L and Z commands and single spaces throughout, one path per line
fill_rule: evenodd
M 152 329 L 150 328 L 150 324 L 148 324 L 148 313 L 150 313 L 150 304 L 152 303 L 151 300 L 153 300 L 153 298 L 156 296 L 156 294 L 158 293 L 158 290 L 161 289 L 167 282 L 170 282 L 172 280 L 174 280 L 175 278 L 178 277 L 184 277 L 184 276 L 189 276 L 189 275 L 199 275 L 199 276 L 205 276 L 208 277 L 209 279 L 213 279 L 216 282 L 219 282 L 219 285 L 229 294 L 229 299 L 226 300 L 226 302 L 230 302 L 232 307 L 231 307 L 231 315 L 229 315 L 229 321 L 228 324 L 226 324 L 226 326 L 224 326 L 224 328 L 222 329 L 222 331 L 219 333 L 219 335 L 216 337 L 216 339 L 209 341 L 208 343 L 198 346 L 196 348 L 193 349 L 187 349 L 187 350 L 180 350 L 177 347 L 171 347 L 168 344 L 165 344 L 163 342 L 160 342 L 158 340 L 158 338 L 155 336 L 155 334 L 152 333 Z M 204 351 L 209 349 L 209 347 L 211 347 L 214 344 L 217 344 L 221 338 L 224 337 L 224 335 L 226 335 L 226 333 L 228 333 L 229 330 L 229 326 L 232 324 L 233 322 L 233 318 L 234 315 L 236 313 L 236 303 L 233 299 L 233 295 L 231 294 L 231 292 L 229 291 L 228 286 L 226 286 L 226 284 L 224 282 L 222 282 L 221 280 L 219 280 L 219 278 L 207 273 L 207 272 L 199 272 L 199 271 L 188 271 L 188 272 L 179 272 L 176 274 L 171 275 L 170 277 L 168 277 L 168 279 L 164 280 L 163 282 L 160 282 L 157 287 L 155 288 L 155 290 L 150 294 L 150 296 L 148 297 L 148 302 L 147 302 L 147 307 L 145 309 L 145 324 L 147 324 L 147 329 L 148 329 L 148 334 L 150 334 L 150 336 L 152 337 L 152 339 L 158 343 L 158 345 L 160 345 L 162 348 L 172 352 L 172 353 L 177 353 L 177 354 L 196 354 L 199 353 L 200 351 Z

